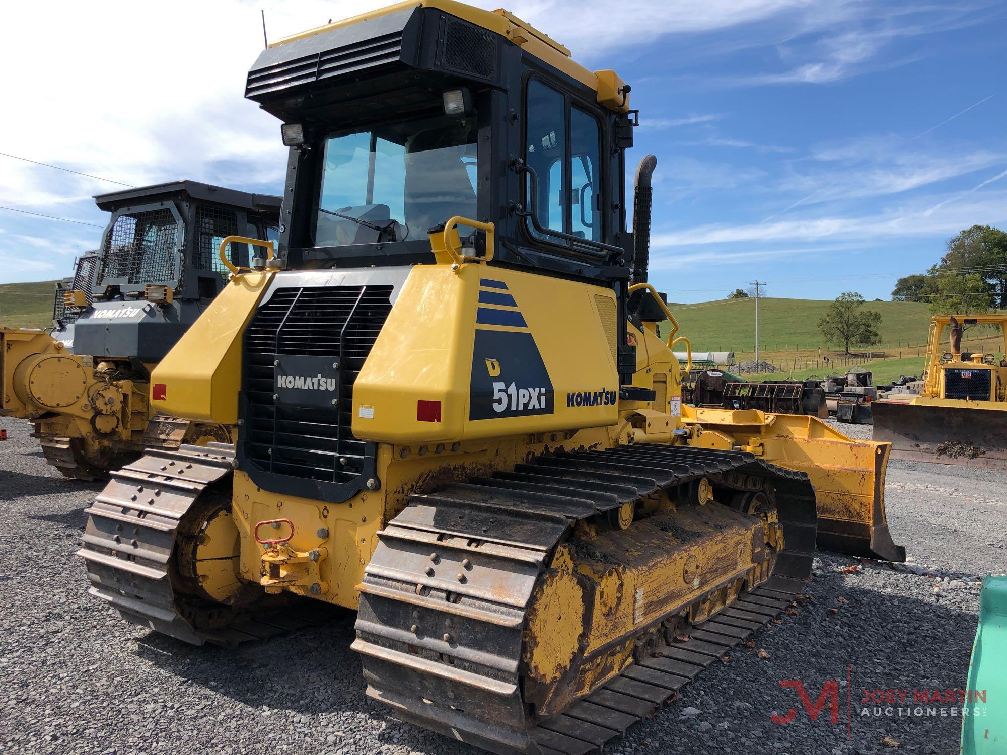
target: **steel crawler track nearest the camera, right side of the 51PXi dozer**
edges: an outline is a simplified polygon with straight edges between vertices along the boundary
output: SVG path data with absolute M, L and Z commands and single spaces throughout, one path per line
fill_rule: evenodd
M 776 489 L 785 548 L 770 580 L 695 626 L 690 642 L 659 648 L 528 728 L 519 668 L 525 611 L 553 548 L 578 519 L 702 476 L 728 484 L 738 473 L 770 477 Z M 353 649 L 368 695 L 404 720 L 493 752 L 598 751 L 790 604 L 811 572 L 816 522 L 805 473 L 691 447 L 557 453 L 414 494 L 379 533 L 359 586 Z

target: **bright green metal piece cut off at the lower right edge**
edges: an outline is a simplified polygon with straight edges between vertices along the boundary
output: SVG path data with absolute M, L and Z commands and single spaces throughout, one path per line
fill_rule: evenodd
M 969 698 L 963 702 L 970 715 L 962 716 L 962 755 L 1004 752 L 1007 725 L 1002 714 L 994 715 L 994 707 L 1007 699 L 1007 575 L 988 574 L 983 580 L 965 689 Z

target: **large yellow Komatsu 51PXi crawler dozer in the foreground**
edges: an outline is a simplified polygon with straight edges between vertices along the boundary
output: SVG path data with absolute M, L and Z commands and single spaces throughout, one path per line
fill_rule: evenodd
M 613 71 L 424 0 L 273 44 L 246 94 L 290 147 L 279 254 L 152 378 L 235 443 L 152 450 L 89 509 L 90 592 L 123 617 L 229 645 L 296 598 L 356 609 L 396 715 L 583 753 L 788 607 L 816 538 L 903 557 L 886 444 L 682 406 L 656 159 L 629 232 Z

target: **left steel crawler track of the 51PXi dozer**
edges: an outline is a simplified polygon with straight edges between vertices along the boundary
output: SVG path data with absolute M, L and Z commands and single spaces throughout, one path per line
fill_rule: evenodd
M 178 525 L 207 486 L 229 475 L 234 448 L 151 449 L 118 471 L 86 509 L 84 547 L 88 592 L 132 622 L 185 642 L 235 646 L 318 623 L 315 601 L 262 610 L 207 609 L 186 601 L 172 584 Z M 212 627 L 212 628 L 207 628 Z

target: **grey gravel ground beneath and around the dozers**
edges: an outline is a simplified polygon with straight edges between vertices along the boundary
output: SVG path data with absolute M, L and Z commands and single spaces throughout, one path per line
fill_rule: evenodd
M 73 555 L 83 508 L 100 486 L 63 480 L 25 423 L 3 424 L 0 751 L 472 752 L 368 701 L 349 650 L 350 612 L 237 651 L 191 647 L 122 622 L 86 596 Z M 869 436 L 869 427 L 840 427 Z M 885 737 L 902 752 L 958 752 L 961 721 L 948 707 L 943 716 L 940 706 L 916 716 L 900 715 L 904 704 L 858 704 L 863 690 L 965 686 L 978 578 L 1007 570 L 1005 484 L 1007 472 L 893 462 L 889 521 L 913 561 L 892 569 L 820 556 L 812 597 L 797 613 L 760 632 L 756 648 L 715 663 L 607 752 L 847 755 L 889 752 Z M 797 693 L 780 687 L 790 680 L 812 701 L 838 683 L 837 723 L 829 705 L 813 722 Z M 790 708 L 793 723 L 770 721 Z

